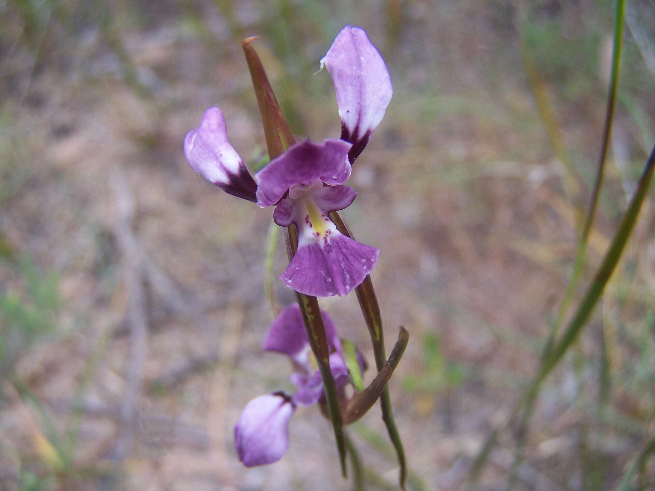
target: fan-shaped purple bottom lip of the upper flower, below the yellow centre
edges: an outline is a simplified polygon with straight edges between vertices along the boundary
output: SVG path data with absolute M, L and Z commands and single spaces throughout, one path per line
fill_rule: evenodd
M 305 295 L 346 295 L 373 270 L 379 253 L 335 230 L 318 242 L 301 243 L 280 279 Z

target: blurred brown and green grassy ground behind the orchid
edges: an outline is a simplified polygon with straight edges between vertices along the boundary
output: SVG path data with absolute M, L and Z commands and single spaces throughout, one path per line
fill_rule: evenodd
M 182 153 L 218 105 L 233 146 L 261 164 L 250 35 L 293 132 L 338 137 L 331 79 L 314 72 L 346 24 L 364 27 L 394 84 L 343 215 L 381 248 L 387 352 L 399 325 L 411 335 L 390 382 L 409 488 L 465 489 L 536 372 L 571 275 L 614 11 L 610 0 L 0 1 L 0 489 L 352 488 L 315 407 L 296 411 L 280 462 L 238 462 L 244 405 L 291 390 L 287 360 L 261 352 L 272 209 L 221 192 Z M 655 141 L 655 6 L 629 1 L 626 16 L 607 174 L 569 310 Z M 652 437 L 654 228 L 648 197 L 544 384 L 515 489 L 614 490 Z M 280 242 L 274 278 L 285 267 Z M 370 365 L 355 295 L 321 304 Z M 379 407 L 351 428 L 366 488 L 396 489 Z M 513 428 L 480 489 L 506 488 Z M 646 461 L 642 489 L 654 480 Z

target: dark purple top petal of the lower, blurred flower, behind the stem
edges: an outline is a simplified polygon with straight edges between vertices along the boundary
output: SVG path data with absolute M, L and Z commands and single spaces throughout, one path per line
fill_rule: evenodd
M 341 341 L 332 318 L 321 310 L 330 352 L 341 353 Z M 286 306 L 272 321 L 264 338 L 263 350 L 288 355 L 300 365 L 309 365 L 309 342 L 298 304 Z

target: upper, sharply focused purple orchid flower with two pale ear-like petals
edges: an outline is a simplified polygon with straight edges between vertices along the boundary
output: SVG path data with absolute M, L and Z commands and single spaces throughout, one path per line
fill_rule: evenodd
M 273 219 L 281 227 L 295 224 L 298 250 L 280 278 L 295 291 L 315 297 L 346 295 L 377 263 L 379 249 L 344 236 L 328 215 L 347 208 L 357 196 L 343 183 L 392 95 L 384 61 L 362 29 L 345 27 L 321 60 L 324 66 L 334 82 L 341 139 L 297 143 L 255 179 L 230 145 L 225 117 L 217 107 L 208 109 L 184 140 L 193 170 L 261 208 L 276 206 Z

